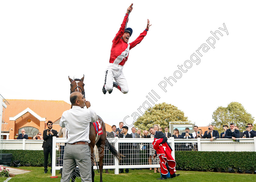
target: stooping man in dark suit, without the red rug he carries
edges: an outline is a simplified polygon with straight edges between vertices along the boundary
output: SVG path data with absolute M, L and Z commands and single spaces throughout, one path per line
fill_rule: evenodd
M 171 149 L 171 151 L 172 151 L 171 146 L 170 146 L 169 143 L 167 142 L 167 137 L 165 136 L 165 134 L 164 134 L 163 132 L 155 131 L 153 127 L 150 127 L 150 128 L 149 128 L 149 132 L 150 132 L 152 135 L 154 135 L 154 138 L 157 138 L 157 139 L 162 138 L 163 141 L 161 142 L 161 144 L 162 144 L 162 143 L 166 143 L 166 144 L 168 145 L 168 147 L 170 147 L 170 149 Z M 153 158 L 156 157 L 156 154 L 157 154 L 157 153 L 155 152 Z M 171 153 L 169 153 L 169 155 L 171 155 Z M 160 161 L 160 162 L 161 162 L 161 161 Z M 166 165 L 166 167 L 167 167 L 167 170 L 168 170 L 168 171 L 170 172 L 170 174 L 171 174 L 171 175 L 170 175 L 170 178 L 174 178 L 174 177 L 180 175 L 180 174 L 176 174 L 176 173 L 175 173 L 175 172 L 176 172 L 175 168 L 174 168 L 174 169 L 169 168 L 168 163 L 165 163 L 165 165 Z M 162 174 L 162 173 L 161 173 L 161 174 Z M 157 179 L 158 179 L 158 180 L 166 180 L 166 179 L 167 179 L 166 174 L 162 174 L 162 177 L 161 177 L 161 178 L 157 178 Z

